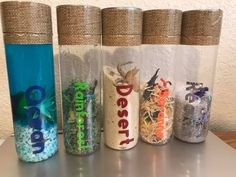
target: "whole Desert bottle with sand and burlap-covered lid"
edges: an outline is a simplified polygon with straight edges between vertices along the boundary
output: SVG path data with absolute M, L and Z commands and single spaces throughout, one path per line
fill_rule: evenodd
M 126 150 L 138 141 L 142 10 L 103 9 L 102 26 L 104 140 Z

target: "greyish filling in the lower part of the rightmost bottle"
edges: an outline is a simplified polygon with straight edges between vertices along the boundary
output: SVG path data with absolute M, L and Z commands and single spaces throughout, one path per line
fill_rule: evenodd
M 176 92 L 175 136 L 197 143 L 205 140 L 210 116 L 211 95 L 203 83 L 187 81 Z

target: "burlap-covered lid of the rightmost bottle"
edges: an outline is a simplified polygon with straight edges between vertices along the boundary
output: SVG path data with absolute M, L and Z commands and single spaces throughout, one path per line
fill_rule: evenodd
M 222 16 L 220 9 L 183 12 L 181 44 L 218 45 Z

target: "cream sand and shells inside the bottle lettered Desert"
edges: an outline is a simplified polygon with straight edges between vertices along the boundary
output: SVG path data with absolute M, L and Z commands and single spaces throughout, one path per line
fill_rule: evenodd
M 104 137 L 113 149 L 134 147 L 138 140 L 138 70 L 104 66 Z

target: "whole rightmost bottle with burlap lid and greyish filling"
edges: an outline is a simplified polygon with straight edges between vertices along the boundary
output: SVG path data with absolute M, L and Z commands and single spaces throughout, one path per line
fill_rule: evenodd
M 208 133 L 221 23 L 221 10 L 183 12 L 174 135 L 185 142 L 202 142 Z

